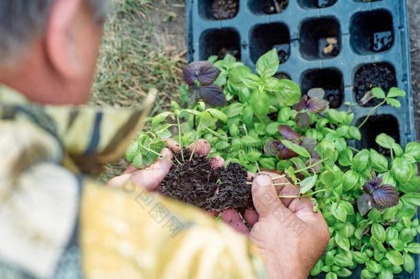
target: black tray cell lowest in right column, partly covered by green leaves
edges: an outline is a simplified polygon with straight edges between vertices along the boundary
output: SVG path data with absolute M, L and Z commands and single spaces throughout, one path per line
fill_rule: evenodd
M 357 125 L 362 123 L 364 118 L 360 118 L 357 121 Z M 362 148 L 373 148 L 377 152 L 384 154 L 385 156 L 390 156 L 390 151 L 383 147 L 380 147 L 375 139 L 381 134 L 385 133 L 388 136 L 391 136 L 395 139 L 395 142 L 399 143 L 399 125 L 398 120 L 395 116 L 390 114 L 379 114 L 370 116 L 368 121 L 360 128 L 361 141 L 359 141 L 359 149 Z

